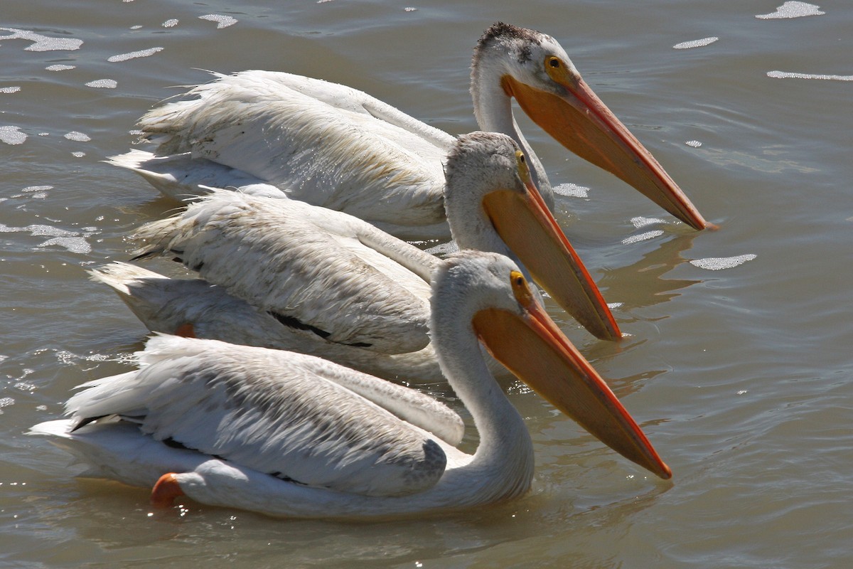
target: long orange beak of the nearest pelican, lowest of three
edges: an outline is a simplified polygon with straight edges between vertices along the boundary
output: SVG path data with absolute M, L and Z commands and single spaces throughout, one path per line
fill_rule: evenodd
M 519 296 L 525 293 L 516 292 L 516 298 Z M 526 297 L 519 298 L 524 307 L 521 316 L 494 308 L 474 316 L 473 328 L 483 345 L 520 380 L 602 443 L 660 478 L 670 479 L 670 467 L 601 375 L 560 332 L 529 290 Z

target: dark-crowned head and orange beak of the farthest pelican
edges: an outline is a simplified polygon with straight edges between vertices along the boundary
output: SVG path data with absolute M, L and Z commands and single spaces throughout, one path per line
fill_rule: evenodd
M 494 78 L 500 78 L 499 84 Z M 694 229 L 710 225 L 658 160 L 583 81 L 554 38 L 494 24 L 474 50 L 471 85 L 483 130 L 515 132 L 514 138 L 525 147 L 511 118 L 510 99 L 515 98 L 537 125 L 572 153 L 621 178 Z M 541 165 L 537 168 L 541 175 L 540 169 Z

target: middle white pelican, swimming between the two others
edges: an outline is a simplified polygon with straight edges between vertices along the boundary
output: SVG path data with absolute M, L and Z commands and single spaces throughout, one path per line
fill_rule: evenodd
M 518 253 L 590 332 L 620 337 L 511 138 L 460 136 L 447 180 L 450 224 L 461 248 Z M 136 278 L 125 265 L 93 273 L 154 331 L 186 334 L 191 324 L 197 337 L 303 351 L 390 379 L 441 378 L 427 334 L 429 277 L 438 258 L 361 219 L 299 200 L 217 190 L 175 217 L 144 225 L 136 238 L 147 243 L 140 256 L 179 259 L 243 301 L 228 302 L 228 294 L 205 292 L 200 283 Z M 203 296 L 181 301 L 177 287 Z M 251 318 L 245 303 L 256 312 Z

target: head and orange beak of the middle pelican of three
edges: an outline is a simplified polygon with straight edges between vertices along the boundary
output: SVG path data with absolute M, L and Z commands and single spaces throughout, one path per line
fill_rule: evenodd
M 598 287 L 531 179 L 528 158 L 507 135 L 460 136 L 445 166 L 450 232 L 463 249 L 493 251 L 530 271 L 560 306 L 603 340 L 621 337 Z

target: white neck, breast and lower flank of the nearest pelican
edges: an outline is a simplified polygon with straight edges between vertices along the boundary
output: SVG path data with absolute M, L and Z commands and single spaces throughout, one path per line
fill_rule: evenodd
M 433 274 L 433 294 L 440 295 L 443 305 L 441 311 L 433 313 L 433 342 L 450 385 L 471 412 L 479 431 L 480 444 L 473 456 L 447 448 L 448 468 L 438 483 L 427 491 L 406 496 L 362 496 L 286 484 L 251 468 L 206 457 L 189 472 L 176 475 L 182 490 L 200 502 L 312 518 L 470 508 L 524 494 L 533 479 L 530 434 L 519 412 L 490 375 L 471 323 L 473 315 L 490 302 L 485 298 L 488 292 L 482 293 L 485 287 L 476 286 L 488 278 L 489 275 L 484 276 L 488 268 L 476 265 L 461 274 L 443 273 L 444 278 L 436 278 L 442 270 L 445 269 Z M 461 279 L 453 278 L 456 276 Z M 447 286 L 438 289 L 438 282 Z M 481 293 L 472 293 L 478 288 Z M 158 444 L 158 448 L 161 446 Z

